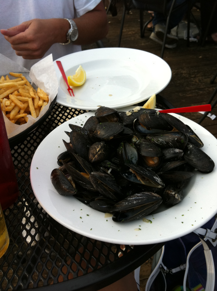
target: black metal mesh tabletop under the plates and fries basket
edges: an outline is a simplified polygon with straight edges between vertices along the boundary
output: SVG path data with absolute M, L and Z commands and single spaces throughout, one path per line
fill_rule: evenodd
M 168 109 L 164 101 L 159 96 L 157 107 Z M 10 243 L 0 258 L 0 290 L 98 290 L 132 272 L 163 245 L 120 246 L 84 237 L 60 225 L 38 203 L 29 178 L 34 152 L 53 129 L 83 112 L 55 104 L 46 121 L 11 149 L 20 191 L 4 210 Z

